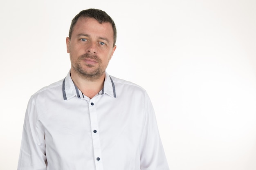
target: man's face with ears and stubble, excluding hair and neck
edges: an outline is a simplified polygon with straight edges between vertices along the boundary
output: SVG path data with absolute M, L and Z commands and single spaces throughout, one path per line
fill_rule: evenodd
M 66 39 L 71 73 L 90 79 L 103 76 L 116 49 L 113 36 L 109 22 L 99 24 L 94 18 L 79 18 L 71 38 Z

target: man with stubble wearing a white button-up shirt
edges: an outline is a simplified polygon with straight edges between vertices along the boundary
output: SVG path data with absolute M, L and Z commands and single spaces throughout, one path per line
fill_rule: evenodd
M 71 69 L 31 96 L 18 170 L 168 170 L 146 91 L 105 71 L 116 37 L 99 9 L 72 20 Z

